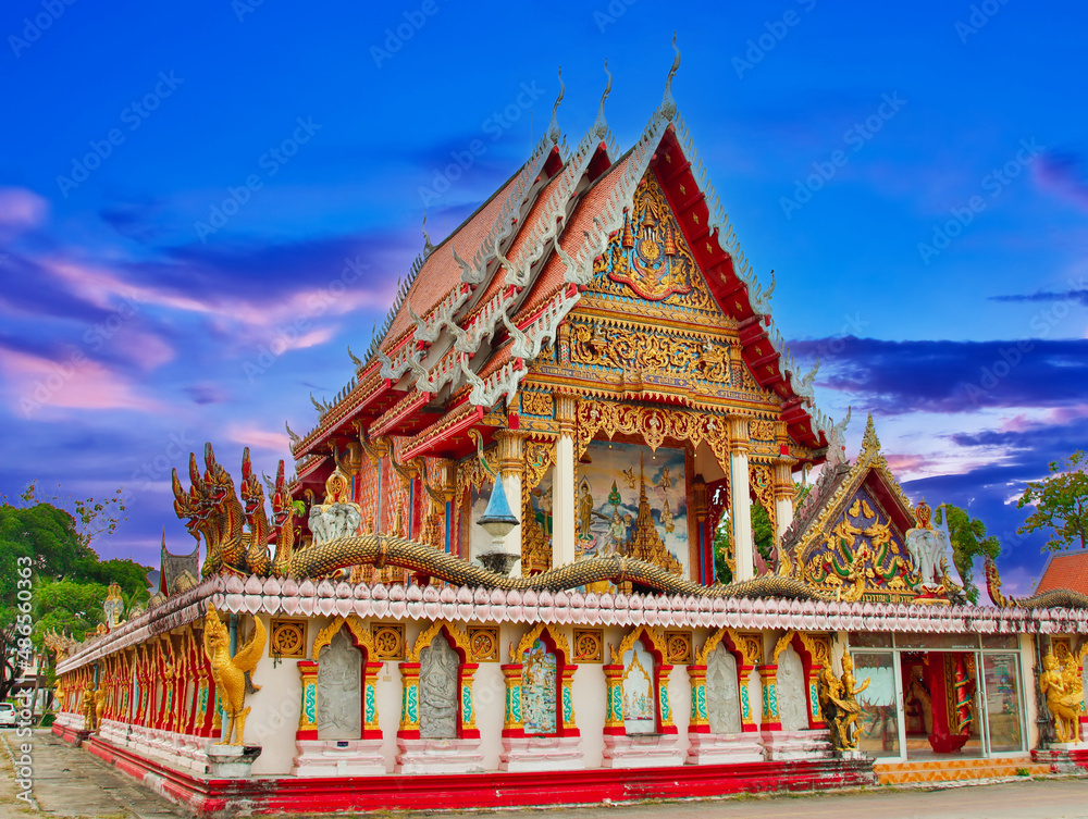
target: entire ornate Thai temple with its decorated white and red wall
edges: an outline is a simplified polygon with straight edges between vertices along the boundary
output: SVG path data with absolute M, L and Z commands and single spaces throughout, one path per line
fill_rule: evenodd
M 1088 757 L 1088 597 L 1007 599 L 988 567 L 992 605 L 970 604 L 871 418 L 848 458 L 677 116 L 678 64 L 633 147 L 607 90 L 573 147 L 557 100 L 526 163 L 425 238 L 346 386 L 292 433 L 294 476 L 262 483 L 246 451 L 236 485 L 210 446 L 175 472 L 199 576 L 163 550 L 147 612 L 52 637 L 58 734 L 198 810 Z M 544 792 L 541 771 L 564 775 Z

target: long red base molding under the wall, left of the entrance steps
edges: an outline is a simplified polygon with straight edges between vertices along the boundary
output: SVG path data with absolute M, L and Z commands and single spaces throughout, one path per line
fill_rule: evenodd
M 314 814 L 599 804 L 742 792 L 812 791 L 876 784 L 873 760 L 823 759 L 564 771 L 546 789 L 539 773 L 460 773 L 251 780 L 203 779 L 145 759 L 97 736 L 95 756 L 198 814 Z

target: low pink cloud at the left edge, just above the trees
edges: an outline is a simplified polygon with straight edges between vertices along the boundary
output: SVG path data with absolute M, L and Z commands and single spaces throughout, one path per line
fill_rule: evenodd
M 82 350 L 53 361 L 0 348 L 0 371 L 7 375 L 4 392 L 12 407 L 24 418 L 35 418 L 50 407 L 162 411 L 159 401 L 139 395 L 124 377 Z

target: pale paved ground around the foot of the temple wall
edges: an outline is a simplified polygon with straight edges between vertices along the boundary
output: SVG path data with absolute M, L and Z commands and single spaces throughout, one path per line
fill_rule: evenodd
M 48 732 L 34 737 L 34 797 L 38 809 L 15 799 L 9 748 L 13 731 L 0 731 L 0 819 L 38 816 L 87 819 L 181 819 L 181 808 L 152 794 L 85 750 Z M 648 803 L 509 811 L 417 814 L 450 819 L 1088 819 L 1088 780 L 1022 780 L 940 790 L 874 790 L 845 794 L 744 796 L 708 802 Z M 343 815 L 338 815 L 343 816 Z M 378 816 L 390 816 L 387 814 Z

